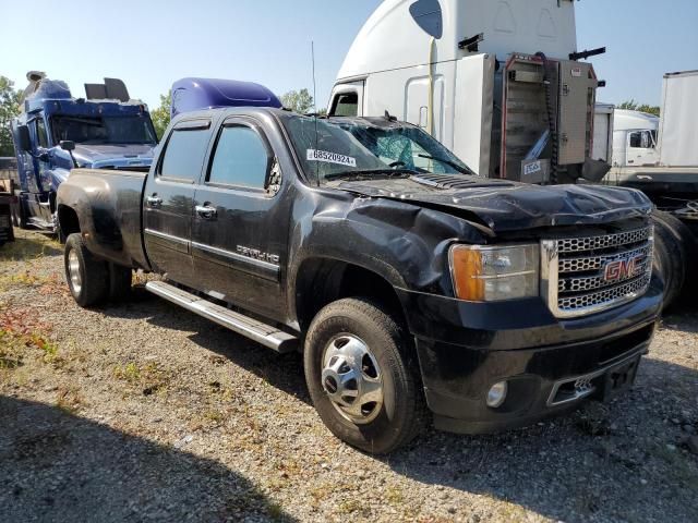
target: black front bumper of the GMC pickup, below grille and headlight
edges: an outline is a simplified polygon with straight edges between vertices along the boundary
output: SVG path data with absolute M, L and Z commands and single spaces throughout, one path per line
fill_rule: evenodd
M 399 296 L 435 426 L 482 434 L 601 399 L 606 375 L 629 362 L 636 362 L 634 379 L 654 333 L 662 283 L 653 279 L 634 302 L 569 320 L 553 317 L 541 300 L 474 304 L 408 291 Z M 491 409 L 488 390 L 502 380 L 509 384 L 507 400 Z

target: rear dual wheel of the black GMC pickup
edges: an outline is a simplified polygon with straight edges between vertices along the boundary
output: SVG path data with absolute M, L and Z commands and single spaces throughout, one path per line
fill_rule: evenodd
M 109 271 L 106 262 L 87 251 L 80 233 L 65 242 L 65 281 L 73 299 L 81 307 L 101 303 L 109 293 Z

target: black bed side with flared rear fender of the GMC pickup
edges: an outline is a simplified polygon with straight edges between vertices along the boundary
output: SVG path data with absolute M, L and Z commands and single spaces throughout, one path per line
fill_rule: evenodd
M 143 247 L 142 195 L 145 172 L 73 169 L 58 191 L 59 222 L 71 232 L 69 212 L 76 212 L 80 230 L 92 253 L 133 268 L 149 268 Z M 68 208 L 72 210 L 67 210 Z

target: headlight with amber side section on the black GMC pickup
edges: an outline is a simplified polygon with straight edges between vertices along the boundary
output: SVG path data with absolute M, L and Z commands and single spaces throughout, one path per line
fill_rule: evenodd
M 459 300 L 500 302 L 539 295 L 538 244 L 454 245 L 449 264 Z

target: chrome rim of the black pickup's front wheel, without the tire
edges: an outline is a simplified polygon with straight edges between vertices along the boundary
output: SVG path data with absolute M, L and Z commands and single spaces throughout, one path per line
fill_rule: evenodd
M 383 406 L 383 375 L 369 345 L 353 335 L 333 338 L 323 353 L 323 390 L 342 417 L 374 421 Z

